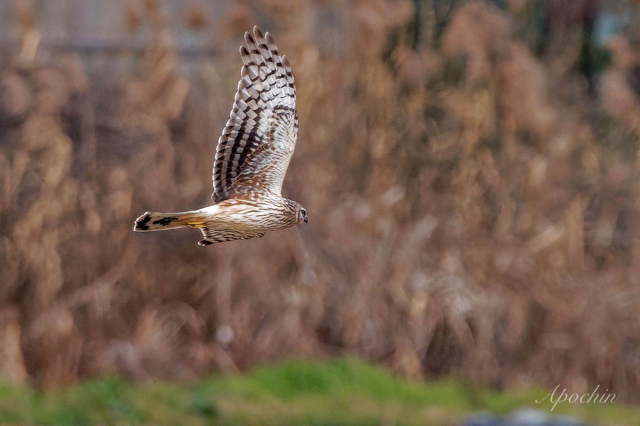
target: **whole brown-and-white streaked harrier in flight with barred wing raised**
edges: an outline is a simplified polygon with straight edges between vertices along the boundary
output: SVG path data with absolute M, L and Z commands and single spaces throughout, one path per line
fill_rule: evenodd
M 147 211 L 134 231 L 200 228 L 204 246 L 307 222 L 307 210 L 280 195 L 298 137 L 291 65 L 258 27 L 244 41 L 242 78 L 213 165 L 214 204 L 184 213 Z

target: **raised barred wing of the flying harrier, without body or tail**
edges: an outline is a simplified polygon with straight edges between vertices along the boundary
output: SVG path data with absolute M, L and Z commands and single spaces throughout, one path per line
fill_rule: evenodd
M 280 195 L 298 137 L 296 87 L 287 57 L 258 27 L 244 40 L 242 79 L 213 165 L 215 202 Z

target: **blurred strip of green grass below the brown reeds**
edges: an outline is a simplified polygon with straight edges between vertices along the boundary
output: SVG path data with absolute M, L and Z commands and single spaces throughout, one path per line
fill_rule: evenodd
M 447 379 L 410 383 L 362 361 L 289 361 L 195 383 L 92 379 L 42 392 L 0 385 L 0 423 L 36 425 L 456 425 L 468 413 L 549 410 L 547 390 L 498 392 Z M 640 425 L 614 404 L 558 404 L 593 425 Z

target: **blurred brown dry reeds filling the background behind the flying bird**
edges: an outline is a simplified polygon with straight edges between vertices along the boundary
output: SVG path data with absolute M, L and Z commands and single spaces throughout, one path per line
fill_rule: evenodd
M 3 0 L 0 377 L 195 379 L 353 355 L 640 399 L 640 2 Z M 309 224 L 211 202 L 244 31 L 289 57 Z

